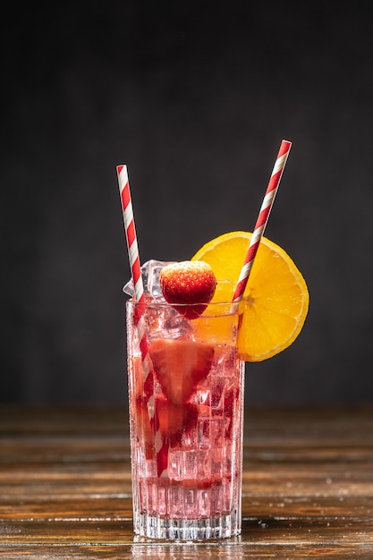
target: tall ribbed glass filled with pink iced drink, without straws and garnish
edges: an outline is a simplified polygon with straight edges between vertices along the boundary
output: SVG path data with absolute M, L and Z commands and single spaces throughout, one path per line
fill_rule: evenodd
M 241 531 L 244 362 L 239 312 L 186 319 L 165 301 L 127 302 L 134 530 L 157 539 Z

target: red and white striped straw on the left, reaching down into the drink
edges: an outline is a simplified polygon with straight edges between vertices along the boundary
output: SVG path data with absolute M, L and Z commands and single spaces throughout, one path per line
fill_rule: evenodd
M 121 195 L 124 229 L 125 229 L 125 236 L 127 240 L 128 255 L 130 259 L 131 276 L 132 276 L 133 287 L 135 291 L 135 300 L 141 303 L 145 300 L 144 284 L 142 282 L 142 276 L 141 276 L 139 246 L 137 242 L 135 220 L 133 217 L 130 182 L 128 180 L 127 166 L 117 165 L 116 173 L 118 175 L 119 192 Z M 154 407 L 154 396 L 152 390 L 153 379 L 154 379 L 153 363 L 151 361 L 148 352 L 148 341 L 145 332 L 144 321 L 142 318 L 144 310 L 145 307 L 141 305 L 139 313 L 135 313 L 134 315 L 134 324 L 135 327 L 137 328 L 139 340 L 140 340 L 143 386 L 147 387 L 147 390 L 145 390 L 144 393 L 145 393 L 146 403 L 148 407 L 148 417 L 150 421 L 150 426 L 153 428 L 155 434 L 158 476 L 161 476 L 163 471 L 165 471 L 165 469 L 167 468 L 168 446 L 165 445 L 165 443 L 162 441 L 159 419 L 158 419 L 157 411 L 155 410 Z

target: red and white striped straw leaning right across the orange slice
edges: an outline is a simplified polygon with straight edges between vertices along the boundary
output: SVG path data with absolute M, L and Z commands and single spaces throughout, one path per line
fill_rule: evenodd
M 249 249 L 246 253 L 246 258 L 233 294 L 233 301 L 242 300 L 243 293 L 249 280 L 250 271 L 259 248 L 259 243 L 264 230 L 266 229 L 268 217 L 275 201 L 278 185 L 280 184 L 281 177 L 283 176 L 284 166 L 286 164 L 287 157 L 289 156 L 290 148 L 292 148 L 292 142 L 289 142 L 288 140 L 283 140 L 281 142 L 276 162 L 268 182 L 267 191 L 259 211 L 257 223 L 250 239 Z

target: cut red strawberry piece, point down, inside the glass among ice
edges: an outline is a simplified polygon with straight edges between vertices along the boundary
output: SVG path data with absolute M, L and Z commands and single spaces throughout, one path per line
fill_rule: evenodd
M 182 406 L 208 376 L 214 346 L 191 340 L 157 338 L 148 348 L 154 372 L 167 400 Z

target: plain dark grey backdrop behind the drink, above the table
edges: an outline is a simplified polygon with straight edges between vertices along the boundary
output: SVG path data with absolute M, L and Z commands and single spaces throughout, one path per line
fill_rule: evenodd
M 343 7 L 342 7 L 343 6 Z M 252 230 L 292 140 L 267 237 L 309 284 L 291 348 L 251 403 L 373 399 L 373 34 L 369 2 L 108 0 L 2 17 L 2 402 L 121 403 L 130 276 Z

